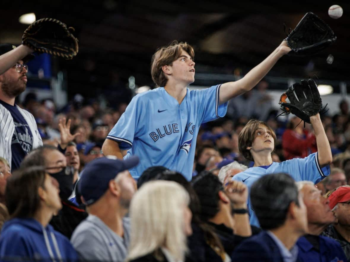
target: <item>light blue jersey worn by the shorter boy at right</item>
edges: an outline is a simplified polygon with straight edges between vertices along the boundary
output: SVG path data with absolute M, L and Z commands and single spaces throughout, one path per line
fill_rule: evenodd
M 330 174 L 329 165 L 323 168 L 320 167 L 317 154 L 318 153 L 316 152 L 308 155 L 306 158 L 294 158 L 281 163 L 273 162 L 267 169 L 262 167 L 251 167 L 233 176 L 232 180 L 245 183 L 248 187 L 249 193 L 250 188 L 255 181 L 264 175 L 272 173 L 287 173 L 291 175 L 295 181 L 309 180 L 317 184 Z M 248 212 L 250 216 L 250 224 L 259 226 L 259 221 L 250 203 L 250 198 L 248 198 Z

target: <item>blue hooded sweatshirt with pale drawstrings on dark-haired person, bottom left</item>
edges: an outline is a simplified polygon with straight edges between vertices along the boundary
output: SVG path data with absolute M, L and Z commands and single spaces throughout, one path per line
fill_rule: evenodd
M 77 261 L 66 238 L 52 226 L 43 227 L 33 218 L 14 218 L 2 227 L 0 261 Z

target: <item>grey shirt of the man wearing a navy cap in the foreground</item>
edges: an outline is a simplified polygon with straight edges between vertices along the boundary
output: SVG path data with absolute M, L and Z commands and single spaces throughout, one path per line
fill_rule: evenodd
M 72 234 L 70 242 L 84 261 L 124 261 L 130 243 L 130 218 L 123 218 L 124 236 L 114 233 L 101 219 L 89 215 Z

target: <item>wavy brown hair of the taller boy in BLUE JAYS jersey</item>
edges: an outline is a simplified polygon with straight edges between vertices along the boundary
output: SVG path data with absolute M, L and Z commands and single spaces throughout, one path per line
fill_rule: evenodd
M 186 42 L 177 42 L 174 40 L 167 46 L 159 48 L 152 57 L 151 75 L 152 80 L 158 87 L 165 86 L 168 78 L 162 70 L 162 66 L 172 65 L 173 62 L 181 56 L 181 52 L 186 51 L 192 59 L 195 53 L 193 47 Z

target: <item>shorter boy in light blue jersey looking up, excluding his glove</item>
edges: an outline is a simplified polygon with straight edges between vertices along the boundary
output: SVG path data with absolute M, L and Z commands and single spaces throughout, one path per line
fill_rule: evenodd
M 261 176 L 271 173 L 287 173 L 294 180 L 310 180 L 315 184 L 330 174 L 329 164 L 332 162 L 332 153 L 329 141 L 324 132 L 320 114 L 310 117 L 314 128 L 318 152 L 306 158 L 294 158 L 281 163 L 273 162 L 271 153 L 275 148 L 276 135 L 264 122 L 250 120 L 239 134 L 239 151 L 243 156 L 254 161 L 254 166 L 232 177 L 245 183 L 250 190 L 252 184 Z M 254 208 L 248 198 L 248 212 L 250 224 L 259 226 Z M 266 210 L 266 212 L 269 212 Z

